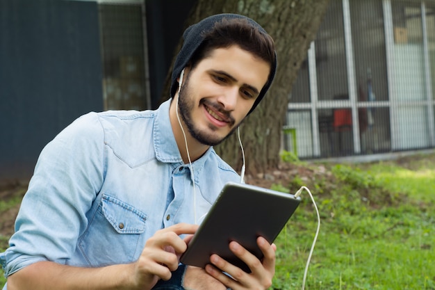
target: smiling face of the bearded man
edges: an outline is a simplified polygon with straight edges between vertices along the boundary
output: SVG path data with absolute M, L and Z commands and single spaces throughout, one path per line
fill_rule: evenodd
M 179 114 L 190 135 L 217 145 L 246 117 L 268 80 L 270 65 L 232 46 L 215 49 L 185 73 L 179 92 Z

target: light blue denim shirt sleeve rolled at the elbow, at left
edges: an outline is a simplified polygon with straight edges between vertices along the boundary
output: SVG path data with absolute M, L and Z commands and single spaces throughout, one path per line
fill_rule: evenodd
M 66 264 L 104 180 L 104 130 L 97 113 L 74 121 L 42 150 L 0 255 L 5 275 L 37 261 Z

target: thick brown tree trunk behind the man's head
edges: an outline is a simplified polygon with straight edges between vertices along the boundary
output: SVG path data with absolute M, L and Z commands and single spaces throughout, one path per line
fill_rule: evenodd
M 240 126 L 246 172 L 249 174 L 265 172 L 279 164 L 288 95 L 328 4 L 329 0 L 198 0 L 192 8 L 186 27 L 209 15 L 238 13 L 254 19 L 274 39 L 278 58 L 274 82 L 265 99 Z M 181 42 L 177 51 L 180 47 Z M 165 99 L 170 78 L 166 83 Z M 216 146 L 215 150 L 236 170 L 241 167 L 242 153 L 237 134 Z

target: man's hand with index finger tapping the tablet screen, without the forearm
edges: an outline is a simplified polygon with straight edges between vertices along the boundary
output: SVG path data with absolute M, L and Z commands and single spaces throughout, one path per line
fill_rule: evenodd
M 158 230 L 145 243 L 138 261 L 133 266 L 131 282 L 134 289 L 151 289 L 159 279 L 170 280 L 171 271 L 179 265 L 179 258 L 187 249 L 188 240 L 181 239 L 180 234 L 194 234 L 197 225 L 179 223 L 165 229 Z

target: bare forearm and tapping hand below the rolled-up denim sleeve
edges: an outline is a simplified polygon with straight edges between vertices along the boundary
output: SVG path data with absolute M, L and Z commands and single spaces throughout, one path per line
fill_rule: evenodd
M 179 257 L 186 251 L 191 234 L 197 228 L 197 225 L 181 223 L 159 230 L 147 241 L 142 255 L 133 264 L 82 268 L 38 261 L 10 275 L 8 289 L 151 289 L 159 279 L 170 279 L 171 271 L 178 268 Z M 189 236 L 181 239 L 180 234 Z

